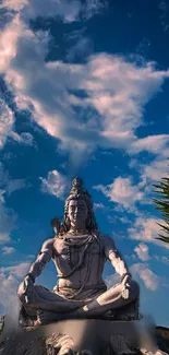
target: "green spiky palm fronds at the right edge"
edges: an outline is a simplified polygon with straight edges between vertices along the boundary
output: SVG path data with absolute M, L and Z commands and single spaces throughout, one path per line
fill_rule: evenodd
M 154 192 L 160 194 L 160 200 L 153 199 L 153 201 L 156 209 L 161 212 L 165 222 L 165 225 L 157 223 L 161 227 L 161 230 L 165 232 L 165 235 L 158 234 L 159 237 L 156 239 L 169 242 L 169 177 L 161 178 L 158 185 L 153 186 L 157 188 Z

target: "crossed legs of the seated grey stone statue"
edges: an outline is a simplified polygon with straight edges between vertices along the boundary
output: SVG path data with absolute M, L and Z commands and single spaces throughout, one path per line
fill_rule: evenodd
M 101 316 L 108 310 L 122 308 L 138 298 L 140 287 L 135 281 L 131 281 L 129 298 L 122 297 L 122 284 L 117 284 L 108 291 L 96 294 L 92 300 L 68 299 L 58 293 L 50 292 L 43 286 L 34 285 L 34 301 L 27 304 L 22 284 L 19 287 L 19 297 L 28 315 L 41 315 L 41 322 L 68 319 L 90 318 Z

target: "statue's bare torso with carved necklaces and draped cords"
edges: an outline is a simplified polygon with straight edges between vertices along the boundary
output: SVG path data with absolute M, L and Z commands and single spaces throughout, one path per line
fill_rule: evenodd
M 75 239 L 83 241 L 86 236 L 75 236 Z M 72 235 L 67 234 L 63 238 L 56 238 L 53 242 L 53 261 L 58 271 L 59 282 L 58 286 L 70 287 L 80 289 L 85 283 L 85 288 L 98 289 L 99 286 L 104 286 L 102 271 L 105 264 L 105 253 L 104 253 L 104 239 L 95 238 L 88 246 L 84 253 L 82 253 L 86 244 L 81 247 L 69 246 L 64 239 L 70 242 L 72 240 Z M 73 240 L 75 240 L 73 239 Z M 76 265 L 82 257 L 82 264 L 79 269 Z M 75 270 L 74 270 L 75 269 Z M 74 272 L 73 272 L 74 270 Z

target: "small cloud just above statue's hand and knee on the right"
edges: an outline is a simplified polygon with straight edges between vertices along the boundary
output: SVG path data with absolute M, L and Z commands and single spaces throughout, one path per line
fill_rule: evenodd
M 156 291 L 159 286 L 159 277 L 145 263 L 135 263 L 130 268 L 133 276 L 138 275 L 146 288 Z

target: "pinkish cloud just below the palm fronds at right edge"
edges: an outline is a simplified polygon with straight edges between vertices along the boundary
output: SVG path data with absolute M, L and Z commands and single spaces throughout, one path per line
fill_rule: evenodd
M 142 240 L 146 242 L 157 244 L 158 246 L 169 248 L 169 246 L 165 242 L 161 242 L 156 239 L 158 237 L 158 233 L 160 227 L 157 223 L 164 224 L 162 220 L 159 218 L 143 218 L 138 217 L 133 227 L 128 228 L 128 234 L 131 239 Z

